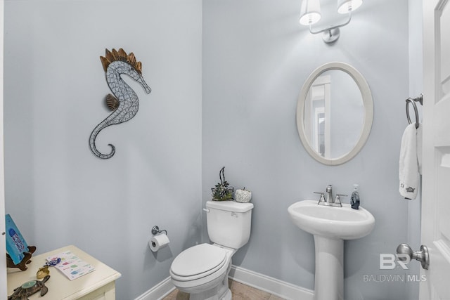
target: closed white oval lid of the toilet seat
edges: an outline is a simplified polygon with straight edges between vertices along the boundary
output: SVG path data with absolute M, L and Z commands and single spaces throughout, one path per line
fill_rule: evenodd
M 181 252 L 172 262 L 172 273 L 193 276 L 214 273 L 226 261 L 226 250 L 212 244 L 198 244 Z M 208 275 L 205 274 L 205 275 Z

